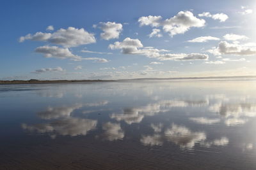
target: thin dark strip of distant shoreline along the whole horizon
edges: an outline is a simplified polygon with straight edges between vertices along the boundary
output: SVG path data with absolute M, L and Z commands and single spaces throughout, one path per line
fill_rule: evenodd
M 147 81 L 147 80 L 246 80 L 256 76 L 211 76 L 211 77 L 187 77 L 187 78 L 133 78 L 123 80 L 0 80 L 0 85 L 12 84 L 47 84 L 47 83 L 93 83 L 111 81 Z

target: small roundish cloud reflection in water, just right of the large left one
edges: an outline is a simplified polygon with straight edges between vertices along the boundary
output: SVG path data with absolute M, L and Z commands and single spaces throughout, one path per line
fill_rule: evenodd
M 122 130 L 120 124 L 107 122 L 102 125 L 102 129 L 105 131 L 104 135 L 110 141 L 124 138 L 124 131 Z

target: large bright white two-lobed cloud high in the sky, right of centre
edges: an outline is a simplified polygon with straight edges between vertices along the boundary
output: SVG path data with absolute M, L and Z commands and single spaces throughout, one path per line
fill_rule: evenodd
M 205 20 L 196 18 L 191 11 L 180 11 L 172 18 L 162 20 L 161 16 L 140 17 L 140 26 L 150 25 L 151 27 L 163 27 L 164 32 L 170 36 L 184 34 L 191 27 L 204 27 Z

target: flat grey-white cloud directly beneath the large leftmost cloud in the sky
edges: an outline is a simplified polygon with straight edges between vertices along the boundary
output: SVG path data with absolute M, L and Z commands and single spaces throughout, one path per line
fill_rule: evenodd
M 78 55 L 74 55 L 68 48 L 60 48 L 58 46 L 39 46 L 35 52 L 43 53 L 44 57 L 51 58 L 55 57 L 58 59 L 72 59 L 81 60 L 82 58 Z

